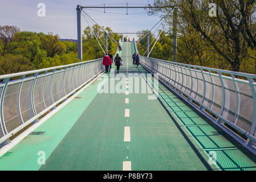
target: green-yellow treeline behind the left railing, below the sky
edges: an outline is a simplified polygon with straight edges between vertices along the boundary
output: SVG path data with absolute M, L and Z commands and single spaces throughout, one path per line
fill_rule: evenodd
M 92 28 L 104 43 L 104 32 L 100 31 L 100 27 Z M 110 28 L 106 29 L 112 32 Z M 112 34 L 117 42 L 120 37 Z M 108 40 L 108 43 L 108 49 L 115 53 L 117 44 L 113 40 Z M 0 26 L 0 75 L 78 63 L 80 60 L 77 52 L 76 40 L 63 40 L 51 32 L 43 34 L 20 31 L 16 26 Z M 83 34 L 83 61 L 103 56 L 94 34 L 87 27 Z

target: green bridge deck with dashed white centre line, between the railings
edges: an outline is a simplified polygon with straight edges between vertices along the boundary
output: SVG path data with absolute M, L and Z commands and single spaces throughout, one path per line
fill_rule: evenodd
M 147 73 L 132 65 L 132 46 L 123 43 L 124 65 L 116 76 L 124 77 L 129 88 L 135 85 L 126 80 L 127 73 Z M 157 100 L 141 92 L 98 93 L 97 86 L 109 76 L 104 73 L 34 130 L 43 135 L 28 135 L 3 155 L 0 170 L 122 170 L 126 161 L 132 170 L 256 169 L 254 155 L 164 85 L 159 83 Z M 127 141 L 125 127 L 130 129 Z M 38 164 L 39 151 L 45 152 L 46 164 Z M 210 152 L 217 164 L 209 163 Z

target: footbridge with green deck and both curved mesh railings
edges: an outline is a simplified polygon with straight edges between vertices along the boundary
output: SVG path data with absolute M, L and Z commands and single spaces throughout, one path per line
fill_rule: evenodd
M 119 74 L 96 59 L 0 76 L 0 170 L 256 169 L 256 75 L 135 67 L 135 39 L 119 43 Z

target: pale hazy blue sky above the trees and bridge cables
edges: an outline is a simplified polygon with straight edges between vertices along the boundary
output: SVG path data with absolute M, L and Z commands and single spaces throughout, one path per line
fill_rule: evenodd
M 105 6 L 125 6 L 128 2 L 129 6 L 145 6 L 152 3 L 153 0 L 130 0 L 130 1 L 116 1 L 116 0 L 1 0 L 0 1 L 0 26 L 13 25 L 21 28 L 22 31 L 35 32 L 53 32 L 58 34 L 63 39 L 77 39 L 76 28 L 76 6 L 91 6 L 102 5 Z M 38 3 L 46 5 L 46 16 L 39 17 Z M 115 32 L 137 32 L 147 30 L 153 27 L 160 19 L 159 16 L 149 16 L 144 9 L 129 9 L 130 15 L 125 15 L 126 9 L 106 9 L 106 13 L 97 11 L 104 11 L 103 9 L 86 10 L 100 26 L 111 27 Z M 109 13 L 124 13 L 123 14 L 109 14 Z M 134 14 L 144 13 L 144 14 Z M 82 29 L 87 26 L 86 21 L 82 16 Z M 136 35 L 133 35 L 136 36 Z M 133 37 L 129 35 L 130 38 Z

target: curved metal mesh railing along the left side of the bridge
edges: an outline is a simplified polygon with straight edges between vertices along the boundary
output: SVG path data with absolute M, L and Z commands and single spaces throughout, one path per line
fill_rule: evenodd
M 9 140 L 103 71 L 102 59 L 96 59 L 0 76 L 3 80 L 0 84 L 0 143 Z M 13 77 L 21 78 L 10 81 Z

